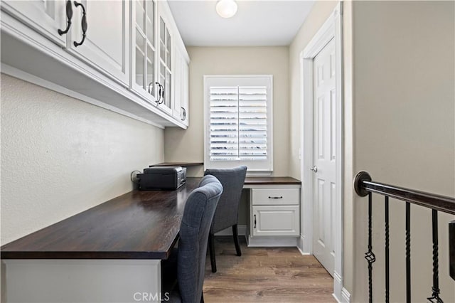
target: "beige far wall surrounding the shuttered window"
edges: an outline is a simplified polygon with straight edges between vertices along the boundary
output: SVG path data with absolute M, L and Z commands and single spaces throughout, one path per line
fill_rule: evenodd
M 190 126 L 185 131 L 164 131 L 165 161 L 204 159 L 203 75 L 273 75 L 274 172 L 287 176 L 289 149 L 289 48 L 281 47 L 189 47 Z M 188 175 L 203 174 L 202 166 Z

